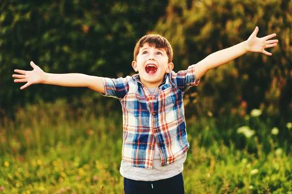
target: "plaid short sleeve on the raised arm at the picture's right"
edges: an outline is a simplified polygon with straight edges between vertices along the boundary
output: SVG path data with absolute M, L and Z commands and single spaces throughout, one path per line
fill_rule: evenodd
M 182 92 L 186 92 L 190 87 L 197 86 L 200 82 L 196 80 L 195 65 L 191 65 L 187 70 L 174 73 L 172 76 L 175 83 Z

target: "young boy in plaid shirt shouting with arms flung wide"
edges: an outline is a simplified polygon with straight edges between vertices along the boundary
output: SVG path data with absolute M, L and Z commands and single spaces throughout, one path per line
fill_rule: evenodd
M 126 78 L 110 79 L 79 73 L 52 74 L 31 62 L 33 71 L 15 70 L 15 82 L 88 87 L 120 100 L 123 109 L 123 150 L 120 173 L 126 194 L 184 194 L 183 162 L 189 148 L 183 94 L 197 86 L 210 69 L 247 52 L 267 55 L 276 36 L 256 37 L 258 27 L 244 42 L 212 53 L 185 71 L 172 71 L 172 48 L 160 35 L 143 36 L 134 50 L 133 69 Z

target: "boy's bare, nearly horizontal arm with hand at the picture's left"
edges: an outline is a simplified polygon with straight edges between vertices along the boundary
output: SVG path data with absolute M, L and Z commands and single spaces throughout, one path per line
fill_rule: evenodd
M 32 84 L 50 84 L 66 87 L 88 87 L 95 91 L 104 93 L 105 88 L 101 77 L 91 76 L 81 73 L 54 74 L 42 71 L 34 62 L 31 61 L 33 71 L 14 70 L 19 74 L 12 77 L 18 78 L 14 82 L 26 82 L 20 89 L 27 88 Z

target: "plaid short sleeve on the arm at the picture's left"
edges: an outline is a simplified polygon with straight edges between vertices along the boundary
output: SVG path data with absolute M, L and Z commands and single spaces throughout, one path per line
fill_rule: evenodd
M 105 94 L 102 94 L 107 97 L 113 97 L 117 99 L 123 99 L 128 92 L 128 78 L 117 78 L 111 79 L 107 77 L 102 77 L 102 81 L 105 88 Z

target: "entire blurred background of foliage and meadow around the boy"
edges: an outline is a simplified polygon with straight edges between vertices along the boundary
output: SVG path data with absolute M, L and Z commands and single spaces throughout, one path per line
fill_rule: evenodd
M 146 34 L 168 39 L 174 71 L 276 33 L 184 95 L 187 194 L 292 194 L 291 0 L 0 0 L 0 193 L 123 193 L 120 102 L 87 88 L 14 83 L 51 73 L 132 75 Z

